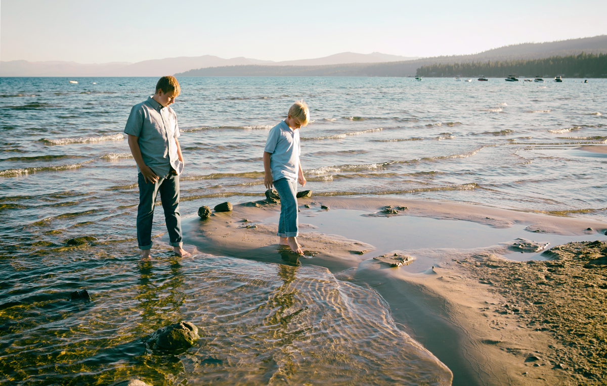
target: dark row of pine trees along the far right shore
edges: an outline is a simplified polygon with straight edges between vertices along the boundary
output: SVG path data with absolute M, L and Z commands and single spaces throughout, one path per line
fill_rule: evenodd
M 437 63 L 422 65 L 419 76 L 563 76 L 564 78 L 607 78 L 607 54 L 599 53 L 551 56 L 544 59 Z

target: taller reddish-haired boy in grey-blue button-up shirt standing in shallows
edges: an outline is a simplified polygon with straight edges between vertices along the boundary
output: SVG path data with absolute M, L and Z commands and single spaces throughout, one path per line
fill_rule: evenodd
M 183 171 L 184 162 L 177 141 L 180 135 L 177 115 L 169 107 L 179 93 L 177 79 L 163 76 L 156 84 L 155 94 L 131 108 L 131 115 L 124 127 L 139 170 L 137 242 L 141 249 L 141 259 L 148 259 L 152 248 L 152 221 L 158 193 L 171 246 L 179 256 L 190 255 L 181 247 L 179 175 Z

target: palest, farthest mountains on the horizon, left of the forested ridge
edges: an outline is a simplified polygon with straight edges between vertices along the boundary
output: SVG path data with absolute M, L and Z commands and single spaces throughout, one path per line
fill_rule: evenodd
M 137 63 L 113 62 L 103 64 L 80 64 L 76 62 L 0 62 L 0 76 L 163 76 L 185 72 L 192 68 L 222 67 L 234 65 L 327 65 L 345 63 L 376 63 L 404 61 L 417 58 L 344 52 L 317 59 L 297 61 L 262 61 L 249 58 L 223 59 L 219 56 L 180 56 L 179 58 L 155 59 Z

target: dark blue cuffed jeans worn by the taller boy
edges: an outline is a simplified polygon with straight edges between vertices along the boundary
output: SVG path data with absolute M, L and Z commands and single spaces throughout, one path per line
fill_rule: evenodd
M 137 243 L 139 249 L 152 248 L 152 221 L 156 197 L 160 193 L 160 201 L 164 209 L 166 229 L 172 247 L 183 245 L 181 236 L 181 215 L 179 214 L 179 176 L 168 175 L 158 178 L 156 183 L 146 182 L 141 173 L 138 174 L 139 206 L 137 207 Z

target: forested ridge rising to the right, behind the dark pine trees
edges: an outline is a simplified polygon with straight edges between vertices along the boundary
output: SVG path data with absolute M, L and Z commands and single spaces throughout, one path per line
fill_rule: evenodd
M 417 69 L 424 65 L 542 59 L 550 56 L 579 55 L 582 52 L 607 53 L 607 35 L 546 43 L 507 45 L 473 55 L 436 56 L 410 61 L 333 65 L 238 65 L 199 68 L 177 73 L 175 76 L 413 76 L 416 75 Z M 605 73 L 607 73 L 607 69 L 605 69 Z

